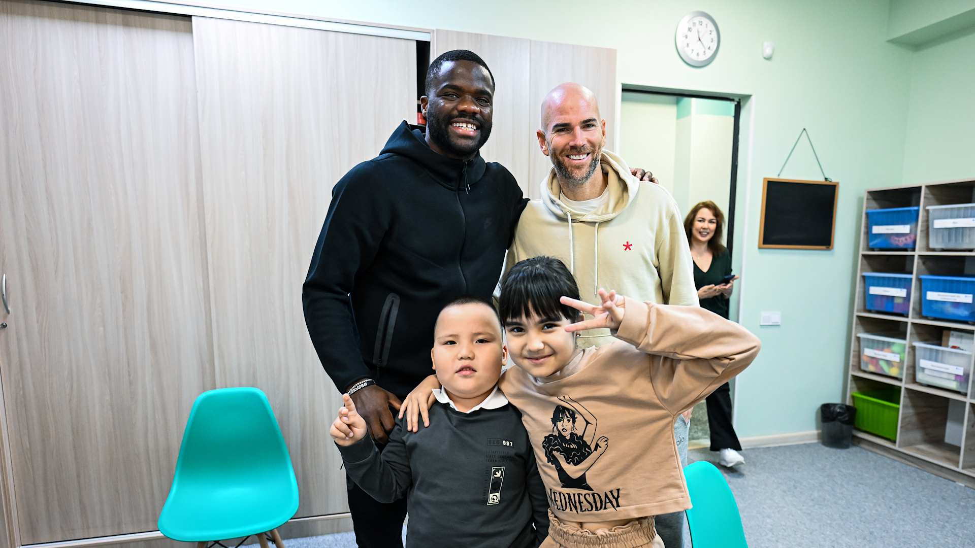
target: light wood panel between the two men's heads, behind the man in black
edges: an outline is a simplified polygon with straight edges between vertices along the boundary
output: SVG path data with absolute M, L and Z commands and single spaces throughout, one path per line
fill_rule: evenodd
M 536 186 L 528 174 L 528 159 L 538 150 L 536 124 L 528 116 L 530 40 L 435 30 L 431 60 L 450 50 L 470 50 L 490 67 L 496 83 L 493 128 L 481 156 L 508 168 L 527 195 L 528 187 Z

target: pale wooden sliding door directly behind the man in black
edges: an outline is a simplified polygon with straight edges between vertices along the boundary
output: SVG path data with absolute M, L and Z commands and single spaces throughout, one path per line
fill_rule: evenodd
M 333 184 L 415 116 L 416 46 L 204 18 L 193 35 L 216 382 L 267 393 L 298 516 L 345 512 L 329 437 L 341 399 L 305 329 L 301 284 Z

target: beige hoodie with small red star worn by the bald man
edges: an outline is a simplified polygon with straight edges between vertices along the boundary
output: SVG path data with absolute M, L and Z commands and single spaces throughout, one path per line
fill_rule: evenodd
M 616 290 L 641 300 L 697 306 L 693 262 L 677 202 L 659 184 L 630 174 L 608 150 L 600 157 L 606 175 L 604 206 L 581 213 L 560 200 L 555 170 L 541 181 L 541 199 L 528 203 L 508 250 L 506 268 L 538 255 L 562 259 L 586 302 L 597 290 Z M 602 344 L 607 330 L 582 333 L 582 342 Z

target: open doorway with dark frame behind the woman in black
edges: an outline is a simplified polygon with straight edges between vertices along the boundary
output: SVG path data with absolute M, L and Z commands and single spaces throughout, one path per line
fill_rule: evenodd
M 738 98 L 623 87 L 620 155 L 630 165 L 653 172 L 674 196 L 682 220 L 705 200 L 721 208 L 726 219 L 722 243 L 732 256 L 740 116 Z M 731 311 L 731 320 L 737 320 L 736 313 Z M 709 447 L 710 434 L 706 405 L 701 402 L 690 421 L 690 447 Z

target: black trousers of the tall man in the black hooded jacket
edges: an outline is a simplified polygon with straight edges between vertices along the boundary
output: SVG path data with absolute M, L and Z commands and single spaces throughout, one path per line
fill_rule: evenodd
M 407 518 L 407 497 L 396 502 L 376 502 L 345 476 L 349 490 L 349 512 L 359 548 L 403 548 L 403 521 Z

